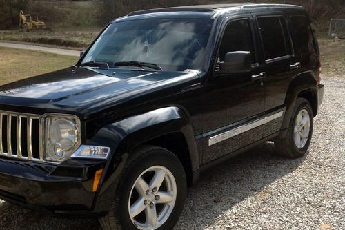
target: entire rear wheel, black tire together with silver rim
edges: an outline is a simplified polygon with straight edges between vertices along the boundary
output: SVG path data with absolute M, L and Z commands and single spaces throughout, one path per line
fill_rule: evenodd
M 297 98 L 286 136 L 275 140 L 278 155 L 298 158 L 306 153 L 313 135 L 313 117 L 311 104 L 304 98 Z M 306 124 L 303 125 L 304 122 Z

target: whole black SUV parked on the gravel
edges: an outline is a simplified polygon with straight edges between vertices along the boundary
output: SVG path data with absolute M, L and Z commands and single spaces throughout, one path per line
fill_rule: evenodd
M 310 22 L 255 4 L 112 21 L 75 66 L 1 86 L 1 199 L 171 229 L 208 166 L 266 141 L 301 157 L 324 93 Z

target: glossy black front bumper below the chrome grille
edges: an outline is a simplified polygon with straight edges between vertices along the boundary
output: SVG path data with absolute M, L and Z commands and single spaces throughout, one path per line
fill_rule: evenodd
M 0 158 L 0 198 L 52 214 L 92 213 L 95 171 L 105 161 L 69 160 L 59 166 Z

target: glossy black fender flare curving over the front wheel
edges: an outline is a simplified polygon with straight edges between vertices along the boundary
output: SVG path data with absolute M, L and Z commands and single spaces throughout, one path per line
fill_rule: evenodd
M 124 169 L 130 153 L 140 144 L 169 133 L 182 133 L 184 135 L 190 153 L 192 171 L 197 171 L 199 169 L 199 153 L 193 127 L 190 124 L 188 114 L 177 106 L 158 108 L 121 119 L 104 126 L 92 137 L 88 144 L 102 143 L 111 148 L 111 155 L 105 167 L 106 173 L 102 175 L 99 191 L 95 197 L 95 211 L 110 210 L 109 200 L 112 199 L 110 196 L 115 194 L 117 178 Z

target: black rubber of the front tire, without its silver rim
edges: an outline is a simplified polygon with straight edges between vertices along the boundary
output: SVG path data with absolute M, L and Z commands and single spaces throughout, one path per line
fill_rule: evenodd
M 163 148 L 157 148 L 145 153 L 144 156 L 139 157 L 137 160 L 132 162 L 126 171 L 124 171 L 124 176 L 126 179 L 123 180 L 122 184 L 119 184 L 117 189 L 117 202 L 118 207 L 115 207 L 115 216 L 119 219 L 122 229 L 137 230 L 128 213 L 128 200 L 132 186 L 139 177 L 139 175 L 151 166 L 164 166 L 170 170 L 175 178 L 177 184 L 177 198 L 175 202 L 175 207 L 170 214 L 170 217 L 166 222 L 158 229 L 172 229 L 175 223 L 181 215 L 181 211 L 184 207 L 184 200 L 186 198 L 186 175 L 184 173 L 184 168 L 179 162 L 178 158 L 166 151 Z

